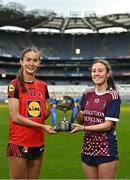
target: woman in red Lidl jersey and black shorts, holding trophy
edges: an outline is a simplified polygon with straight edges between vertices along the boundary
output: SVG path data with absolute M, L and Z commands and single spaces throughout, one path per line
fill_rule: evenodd
M 41 53 L 34 47 L 23 50 L 18 76 L 8 87 L 10 112 L 7 156 L 11 179 L 38 179 L 44 153 L 44 133 L 54 134 L 45 119 L 49 98 L 47 84 L 35 77 Z

